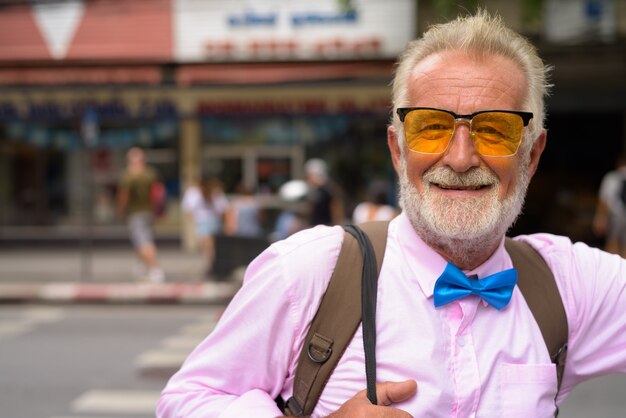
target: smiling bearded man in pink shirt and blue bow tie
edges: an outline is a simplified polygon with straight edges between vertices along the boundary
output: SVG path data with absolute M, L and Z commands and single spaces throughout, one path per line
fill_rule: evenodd
M 484 10 L 408 44 L 387 128 L 402 213 L 388 227 L 376 326 L 357 327 L 310 416 L 546 418 L 580 383 L 626 373 L 626 260 L 548 233 L 513 238 L 545 260 L 564 305 L 559 386 L 505 248 L 547 141 L 547 76 L 536 48 Z M 277 397 L 310 389 L 295 381 L 300 353 L 332 355 L 302 349 L 345 236 L 316 226 L 259 255 L 157 416 L 283 415 Z M 375 403 L 365 331 L 376 336 Z

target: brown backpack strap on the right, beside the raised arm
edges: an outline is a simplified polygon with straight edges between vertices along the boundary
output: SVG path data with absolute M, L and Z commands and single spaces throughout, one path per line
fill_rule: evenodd
M 546 261 L 530 245 L 506 238 L 504 246 L 517 270 L 519 287 L 539 325 L 550 358 L 557 366 L 561 387 L 567 357 L 568 325 L 554 275 Z

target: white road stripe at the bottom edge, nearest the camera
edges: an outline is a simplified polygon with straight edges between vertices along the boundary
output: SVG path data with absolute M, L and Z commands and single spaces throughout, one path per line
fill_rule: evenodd
M 72 402 L 72 411 L 98 414 L 154 414 L 159 391 L 90 390 Z

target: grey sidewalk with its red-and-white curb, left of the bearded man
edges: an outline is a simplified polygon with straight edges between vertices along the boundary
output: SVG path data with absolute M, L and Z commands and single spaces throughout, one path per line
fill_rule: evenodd
M 220 304 L 232 298 L 241 270 L 228 280 L 206 280 L 199 253 L 160 248 L 164 283 L 140 281 L 125 247 L 0 249 L 0 303 Z

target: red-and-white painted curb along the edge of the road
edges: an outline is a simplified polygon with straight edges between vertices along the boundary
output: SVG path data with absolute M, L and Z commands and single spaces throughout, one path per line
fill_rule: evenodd
M 239 283 L 45 283 L 0 284 L 0 303 L 177 303 L 228 302 Z

